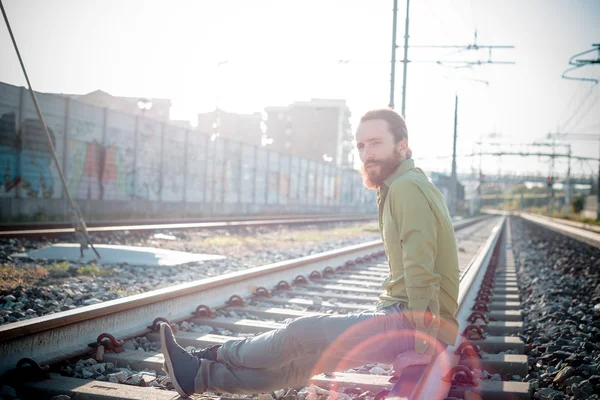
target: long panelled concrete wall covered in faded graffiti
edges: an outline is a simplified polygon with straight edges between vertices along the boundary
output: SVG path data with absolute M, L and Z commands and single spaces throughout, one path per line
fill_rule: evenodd
M 374 204 L 355 171 L 0 83 L 0 198 Z M 213 140 L 214 139 L 214 140 Z M 110 209 L 110 207 L 108 208 Z

